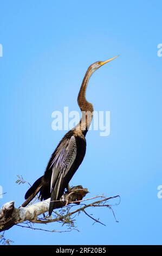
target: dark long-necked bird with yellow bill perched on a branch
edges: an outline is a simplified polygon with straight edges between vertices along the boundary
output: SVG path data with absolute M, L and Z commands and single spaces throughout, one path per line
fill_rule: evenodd
M 69 191 L 69 182 L 75 174 L 76 170 L 82 163 L 86 154 L 86 134 L 93 118 L 93 105 L 86 99 L 86 89 L 89 78 L 101 66 L 113 59 L 98 61 L 89 66 L 83 78 L 77 103 L 81 110 L 81 119 L 79 123 L 68 131 L 57 145 L 51 155 L 44 175 L 37 179 L 25 194 L 28 199 L 36 190 L 40 192 L 40 200 L 50 198 L 49 216 L 55 208 L 55 203 L 60 200 L 64 191 Z

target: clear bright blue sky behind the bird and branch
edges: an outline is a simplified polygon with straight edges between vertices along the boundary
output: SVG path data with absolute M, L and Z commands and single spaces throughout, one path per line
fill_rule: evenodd
M 111 134 L 87 133 L 85 160 L 70 185 L 90 196 L 120 194 L 114 206 L 81 214 L 71 233 L 13 227 L 15 245 L 161 244 L 162 184 L 161 1 L 1 1 L 1 205 L 24 200 L 21 174 L 34 182 L 65 131 L 51 129 L 51 113 L 79 110 L 76 98 L 88 66 L 120 54 L 96 71 L 87 99 L 111 111 Z M 59 229 L 51 224 L 49 229 Z

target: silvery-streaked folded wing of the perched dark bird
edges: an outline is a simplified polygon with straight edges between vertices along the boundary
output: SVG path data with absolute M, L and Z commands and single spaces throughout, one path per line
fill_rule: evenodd
M 51 191 L 55 190 L 55 198 L 58 198 L 64 176 L 72 166 L 76 157 L 76 140 L 72 136 L 64 139 L 56 150 L 55 157 L 51 162 L 53 173 L 51 176 Z

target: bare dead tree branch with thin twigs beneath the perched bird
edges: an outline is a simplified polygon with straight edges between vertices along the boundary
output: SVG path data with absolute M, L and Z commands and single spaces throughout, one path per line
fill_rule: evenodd
M 109 198 L 106 198 L 104 196 L 96 196 L 93 198 L 83 199 L 83 197 L 85 197 L 87 193 L 88 193 L 87 188 L 83 188 L 82 186 L 72 187 L 70 192 L 67 192 L 62 196 L 61 200 L 56 201 L 55 209 L 65 208 L 66 210 L 62 210 L 61 214 L 54 212 L 55 214 L 55 216 L 53 216 L 54 218 L 50 218 L 48 215 L 46 217 L 44 216 L 44 218 L 38 217 L 41 214 L 45 214 L 46 212 L 48 212 L 50 198 L 42 202 L 38 202 L 36 204 L 28 205 L 30 201 L 33 199 L 33 198 L 29 198 L 20 206 L 20 208 L 15 208 L 14 201 L 6 203 L 3 205 L 2 209 L 0 210 L 0 232 L 4 230 L 8 230 L 14 225 L 18 225 L 18 223 L 22 223 L 22 222 L 23 223 L 26 222 L 25 224 L 27 224 L 27 226 L 21 225 L 21 227 L 27 227 L 31 229 L 37 229 L 37 228 L 33 228 L 31 226 L 31 223 L 47 224 L 47 223 L 53 223 L 53 222 L 59 222 L 59 223 L 61 222 L 62 224 L 68 224 L 68 223 L 73 224 L 72 217 L 76 214 L 79 214 L 81 211 L 84 212 L 88 217 L 92 218 L 95 222 L 101 223 L 99 220 L 96 220 L 95 218 L 87 214 L 85 209 L 89 207 L 95 207 L 95 206 L 105 206 L 110 208 L 111 206 L 105 203 L 107 203 L 108 200 L 119 197 L 119 196 L 109 197 Z M 94 202 L 94 199 L 96 198 L 100 198 L 100 200 L 97 200 Z M 93 200 L 93 202 L 89 204 L 85 204 L 85 201 L 87 200 L 90 200 L 90 201 Z M 76 204 L 77 205 L 81 204 L 81 207 L 74 211 L 70 211 L 72 207 Z M 74 227 L 74 225 L 72 225 L 72 227 Z M 37 229 L 37 230 L 40 230 L 40 229 Z M 44 231 L 56 232 L 57 230 L 44 230 Z

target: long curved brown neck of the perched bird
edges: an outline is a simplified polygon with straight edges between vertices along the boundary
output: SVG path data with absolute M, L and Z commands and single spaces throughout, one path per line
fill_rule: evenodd
M 84 135 L 86 135 L 93 118 L 93 105 L 86 100 L 86 89 L 93 72 L 92 69 L 88 68 L 77 96 L 77 103 L 81 109 L 82 117 L 79 124 L 76 125 L 75 130 L 81 131 Z

